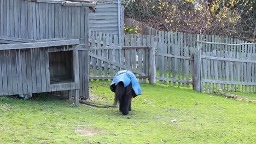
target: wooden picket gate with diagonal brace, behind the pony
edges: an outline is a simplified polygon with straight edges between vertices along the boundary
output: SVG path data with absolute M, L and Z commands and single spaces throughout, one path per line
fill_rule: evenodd
M 99 34 L 101 35 L 101 34 Z M 119 46 L 116 35 L 92 35 L 90 57 L 90 79 L 113 79 L 119 70 L 131 70 L 139 82 L 146 83 L 149 71 L 149 47 L 141 39 L 126 38 L 125 46 Z

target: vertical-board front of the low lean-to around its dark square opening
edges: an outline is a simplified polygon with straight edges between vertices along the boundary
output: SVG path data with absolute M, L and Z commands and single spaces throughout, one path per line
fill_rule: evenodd
M 79 43 L 79 41 L 77 42 Z M 78 44 L 30 49 L 22 47 L 29 47 L 27 44 L 13 45 L 0 46 L 0 95 L 55 92 L 80 88 L 78 67 L 73 69 L 69 65 L 60 65 L 65 64 L 63 62 L 71 58 L 72 62 L 78 63 L 78 56 L 75 53 L 78 51 Z M 9 50 L 4 50 L 5 46 L 9 47 Z M 71 52 L 72 57 L 62 57 L 59 63 L 49 57 L 49 52 L 63 51 L 64 53 L 65 51 Z M 57 62 L 59 65 L 53 65 L 53 62 Z M 55 71 L 54 74 L 50 73 L 52 70 Z M 51 82 L 51 79 L 55 78 L 56 72 L 59 72 L 57 75 L 63 76 L 60 71 L 73 71 L 72 80 L 62 77 L 64 80 L 62 82 Z

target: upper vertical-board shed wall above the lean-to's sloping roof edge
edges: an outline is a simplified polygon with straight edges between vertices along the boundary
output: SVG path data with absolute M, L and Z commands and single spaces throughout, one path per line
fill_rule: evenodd
M 0 36 L 23 39 L 81 39 L 88 44 L 89 7 L 62 5 L 56 1 L 0 0 Z M 86 56 L 86 55 L 84 55 Z M 79 63 L 85 64 L 83 58 Z M 81 71 L 80 77 L 86 71 Z M 89 97 L 88 92 L 80 92 Z

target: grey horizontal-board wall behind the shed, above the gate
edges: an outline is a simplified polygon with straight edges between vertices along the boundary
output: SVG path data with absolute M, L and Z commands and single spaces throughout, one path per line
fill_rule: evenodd
M 97 2 L 95 12 L 89 13 L 88 27 L 89 31 L 118 34 L 117 1 Z

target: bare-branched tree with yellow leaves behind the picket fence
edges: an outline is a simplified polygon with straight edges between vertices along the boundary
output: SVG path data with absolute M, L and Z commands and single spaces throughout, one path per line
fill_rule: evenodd
M 255 0 L 132 0 L 125 15 L 165 31 L 256 35 Z

